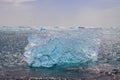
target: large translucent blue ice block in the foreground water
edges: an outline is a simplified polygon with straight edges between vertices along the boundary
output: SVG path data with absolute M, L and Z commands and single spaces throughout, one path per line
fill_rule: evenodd
M 24 60 L 31 67 L 75 67 L 97 61 L 102 30 L 39 30 L 28 36 Z

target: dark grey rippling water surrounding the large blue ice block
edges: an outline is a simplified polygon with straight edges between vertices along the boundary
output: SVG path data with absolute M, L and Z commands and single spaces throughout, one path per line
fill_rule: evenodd
M 95 65 L 79 69 L 30 68 L 23 60 L 24 48 L 28 44 L 28 31 L 0 31 L 0 77 L 83 77 L 94 71 L 120 70 L 120 33 L 118 29 L 104 29 L 102 43 Z M 12 74 L 10 74 L 12 72 Z M 19 73 L 18 73 L 19 72 Z

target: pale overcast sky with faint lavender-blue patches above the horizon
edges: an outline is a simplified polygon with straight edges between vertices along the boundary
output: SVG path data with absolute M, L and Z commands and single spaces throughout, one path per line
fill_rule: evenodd
M 120 26 L 120 0 L 0 0 L 0 25 Z

